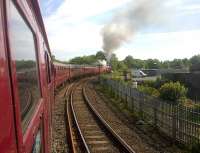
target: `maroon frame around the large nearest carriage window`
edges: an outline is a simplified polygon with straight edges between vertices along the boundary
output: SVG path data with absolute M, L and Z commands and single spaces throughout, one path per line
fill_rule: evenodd
M 28 110 L 27 114 L 24 118 L 22 118 L 22 107 L 21 107 L 21 100 L 20 100 L 20 95 L 19 95 L 19 81 L 17 79 L 17 68 L 16 68 L 16 58 L 14 56 L 14 50 L 12 50 L 13 44 L 11 43 L 11 27 L 10 27 L 10 22 L 11 22 L 11 5 L 13 5 L 13 7 L 16 9 L 16 11 L 18 12 L 18 15 L 20 16 L 20 18 L 23 20 L 24 24 L 27 26 L 27 28 L 29 29 L 29 32 L 31 32 L 32 34 L 32 40 L 34 42 L 34 53 L 35 53 L 35 68 L 36 68 L 36 77 L 37 77 L 37 86 L 38 86 L 38 93 L 39 93 L 39 98 L 35 101 L 35 104 Z M 14 94 L 14 101 L 15 101 L 15 105 L 18 105 L 17 107 L 17 112 L 19 113 L 20 119 L 19 119 L 19 123 L 21 124 L 21 130 L 22 130 L 22 136 L 25 135 L 30 122 L 33 119 L 33 116 L 36 112 L 36 108 L 39 105 L 39 103 L 41 102 L 41 99 L 43 98 L 43 93 L 42 93 L 42 86 L 41 86 L 41 76 L 40 76 L 40 66 L 39 66 L 39 47 L 38 47 L 38 39 L 37 39 L 37 35 L 36 32 L 34 31 L 33 26 L 31 25 L 31 22 L 29 21 L 30 19 L 28 19 L 28 17 L 25 15 L 24 11 L 20 8 L 19 4 L 17 4 L 17 2 L 15 2 L 14 0 L 10 0 L 7 2 L 6 4 L 6 12 L 7 12 L 7 25 L 8 25 L 8 29 L 7 29 L 7 33 L 8 33 L 8 48 L 9 48 L 9 54 L 10 54 L 10 61 L 11 61 L 11 79 L 13 82 L 13 94 Z M 24 123 L 25 122 L 25 123 Z

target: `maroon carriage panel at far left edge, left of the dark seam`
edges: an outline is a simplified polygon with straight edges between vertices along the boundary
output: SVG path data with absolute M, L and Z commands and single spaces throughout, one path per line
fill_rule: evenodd
M 5 10 L 0 1 L 0 152 L 17 151 L 14 124 L 14 107 L 8 69 L 8 54 L 5 40 Z

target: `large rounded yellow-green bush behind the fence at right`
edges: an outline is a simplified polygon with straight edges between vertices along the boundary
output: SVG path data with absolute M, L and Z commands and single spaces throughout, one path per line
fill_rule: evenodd
M 180 84 L 180 82 L 169 82 L 163 84 L 160 89 L 160 98 L 178 103 L 180 99 L 186 97 L 187 88 Z

